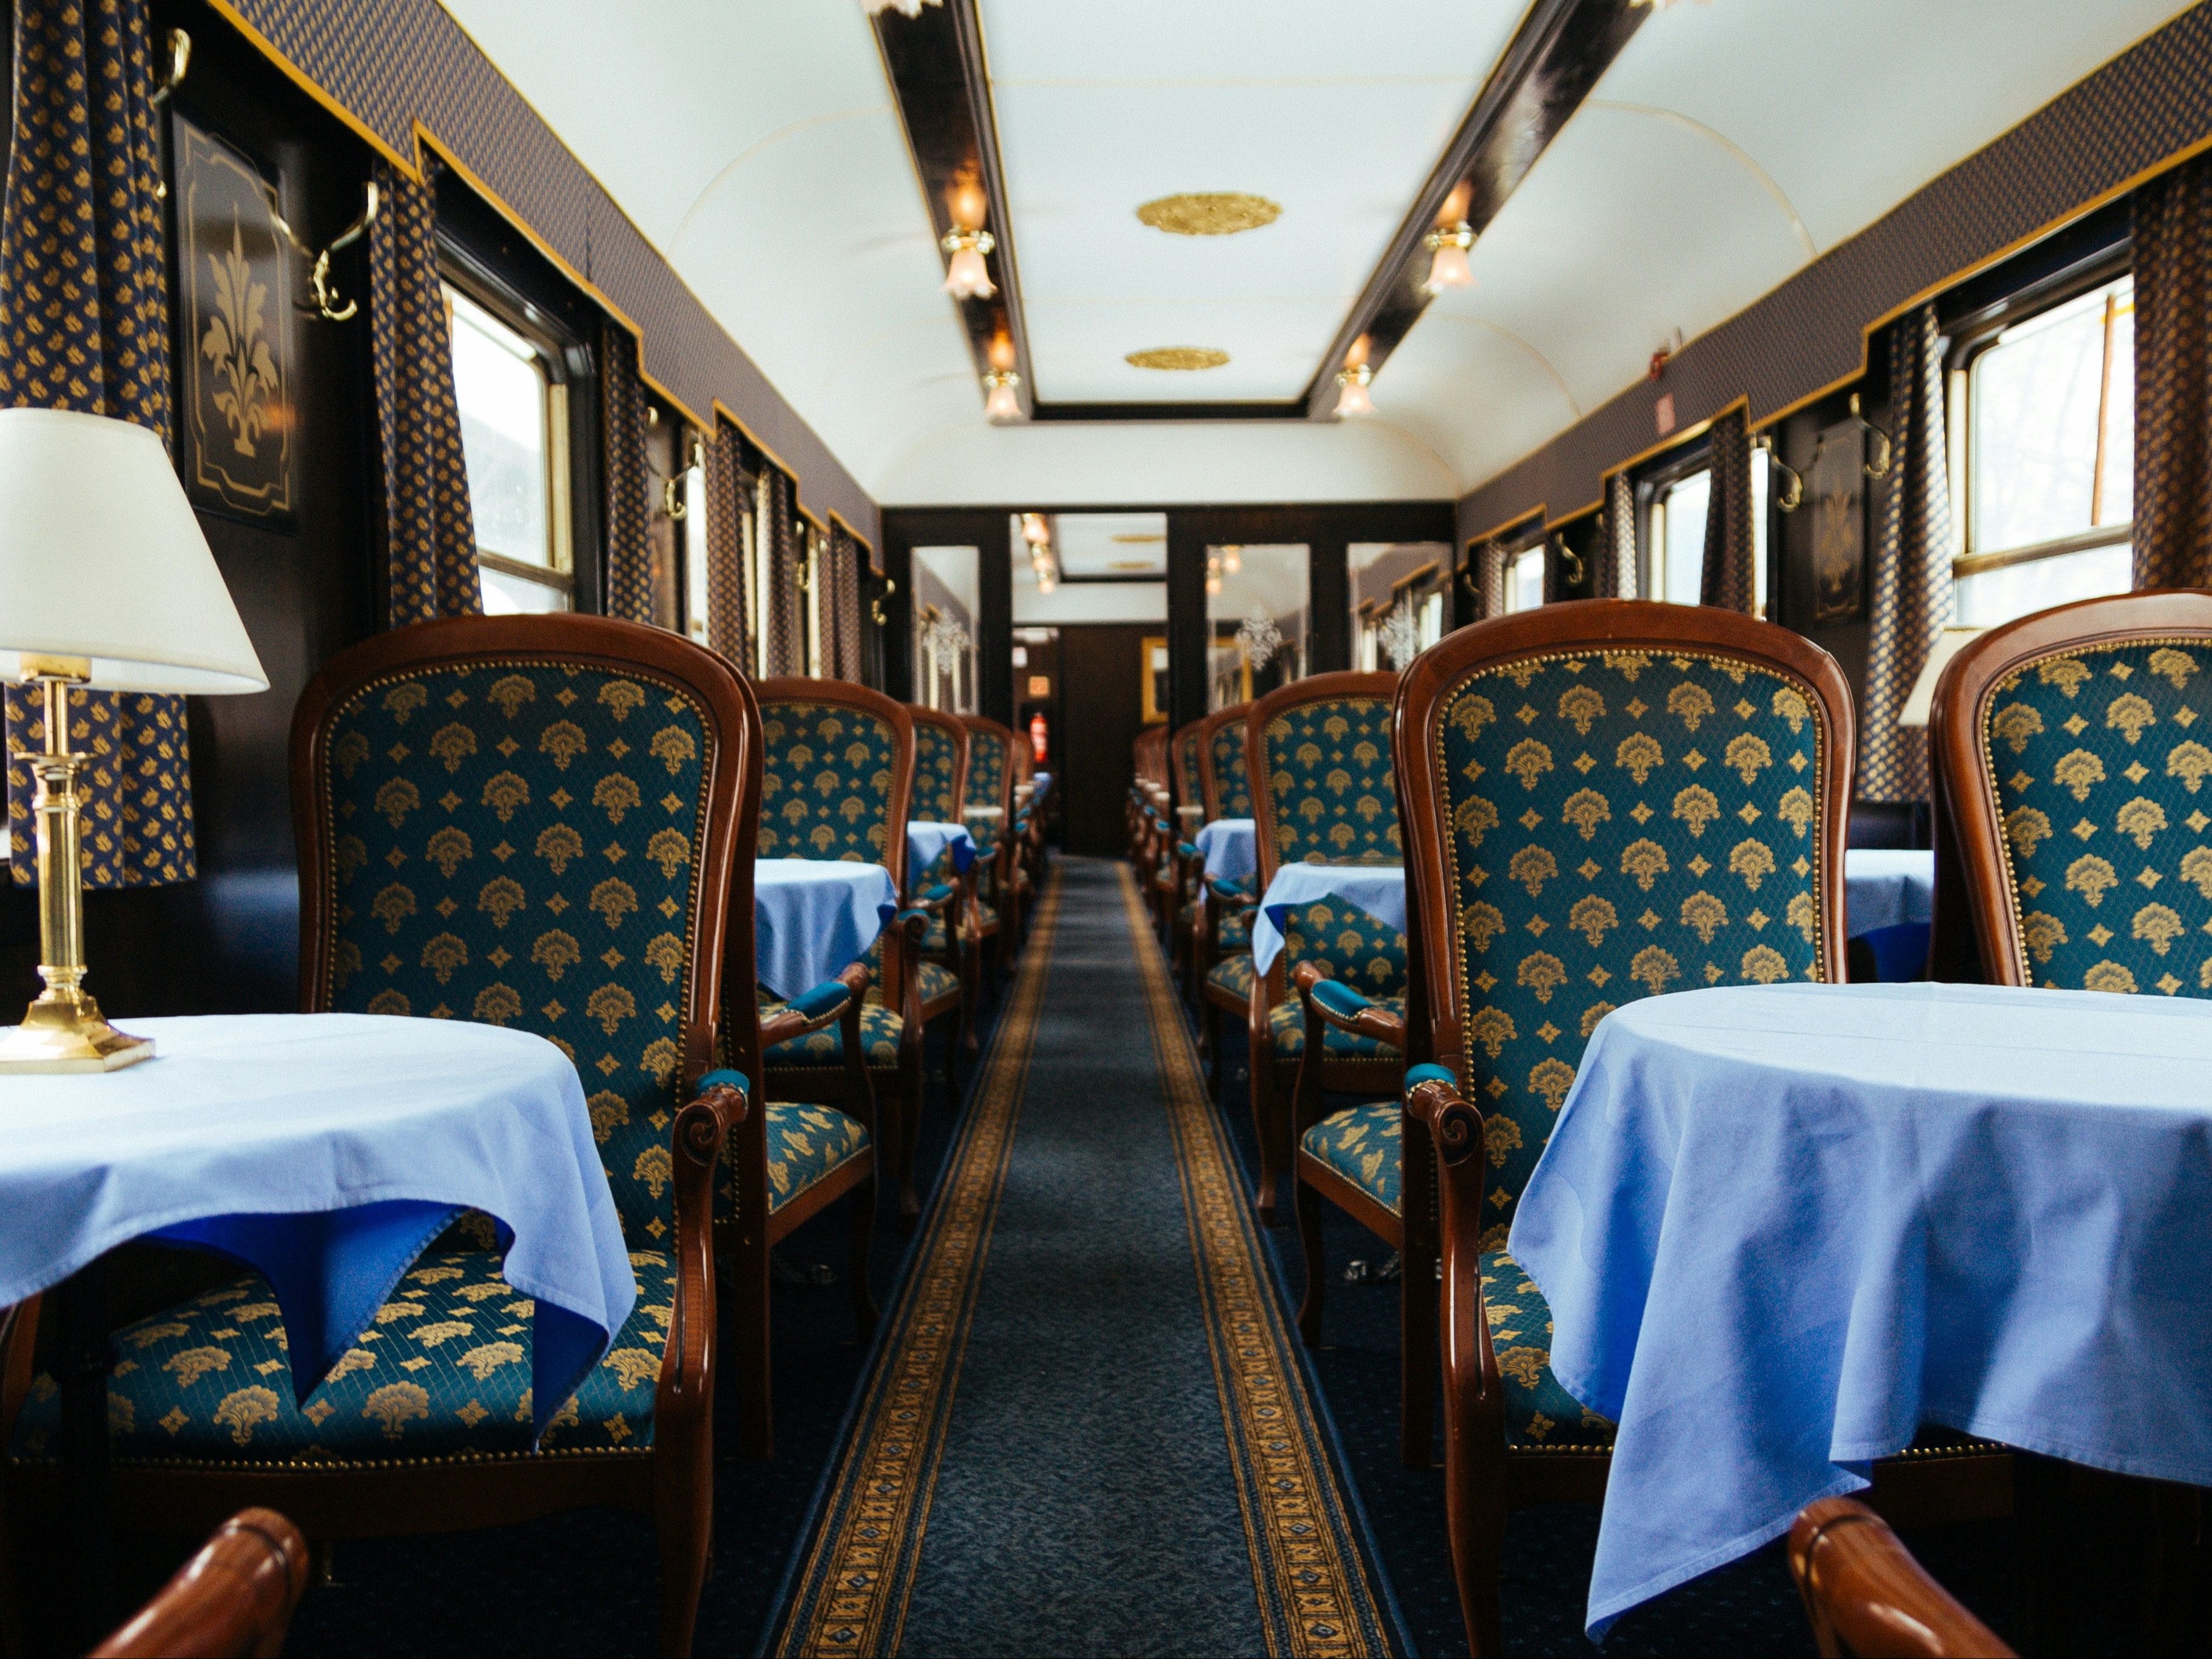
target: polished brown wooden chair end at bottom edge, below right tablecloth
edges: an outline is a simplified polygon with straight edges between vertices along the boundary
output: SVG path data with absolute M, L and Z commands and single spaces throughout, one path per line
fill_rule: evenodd
M 1997 1632 L 1927 1575 L 1889 1522 L 1849 1498 L 1805 1504 L 1790 1573 L 1823 1659 L 2013 1659 Z

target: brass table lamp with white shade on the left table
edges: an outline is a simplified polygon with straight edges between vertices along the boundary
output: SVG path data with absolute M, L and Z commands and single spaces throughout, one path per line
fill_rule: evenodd
M 0 409 L 0 675 L 38 686 L 38 973 L 0 1073 L 115 1071 L 153 1057 L 84 991 L 84 869 L 69 692 L 254 692 L 268 675 L 161 438 L 69 409 Z

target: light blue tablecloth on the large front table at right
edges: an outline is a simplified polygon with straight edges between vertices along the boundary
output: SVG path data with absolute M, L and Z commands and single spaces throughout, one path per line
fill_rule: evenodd
M 1588 1624 L 1940 1422 L 2212 1484 L 2212 1002 L 1723 987 L 1608 1013 L 1511 1252 L 1619 1422 Z

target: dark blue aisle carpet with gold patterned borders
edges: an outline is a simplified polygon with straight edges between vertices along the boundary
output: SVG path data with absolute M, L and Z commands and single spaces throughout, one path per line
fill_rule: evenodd
M 785 1655 L 1402 1652 L 1119 865 L 1055 865 Z

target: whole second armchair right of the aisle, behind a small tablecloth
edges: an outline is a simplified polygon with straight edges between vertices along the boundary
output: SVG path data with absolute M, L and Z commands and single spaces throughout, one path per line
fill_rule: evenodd
M 1259 854 L 1254 891 L 1274 872 L 1307 865 L 1396 865 L 1398 796 L 1391 779 L 1391 697 L 1398 675 L 1314 675 L 1261 697 L 1245 712 L 1245 765 Z M 1292 1095 L 1307 1020 L 1292 995 L 1301 962 L 1321 962 L 1365 998 L 1405 1013 L 1405 936 L 1367 911 L 1325 898 L 1285 914 L 1283 953 L 1252 980 L 1252 1126 L 1259 1135 L 1263 1225 L 1292 1172 Z M 1347 1095 L 1398 1095 L 1405 1053 L 1367 1035 L 1327 1029 L 1316 1086 Z

